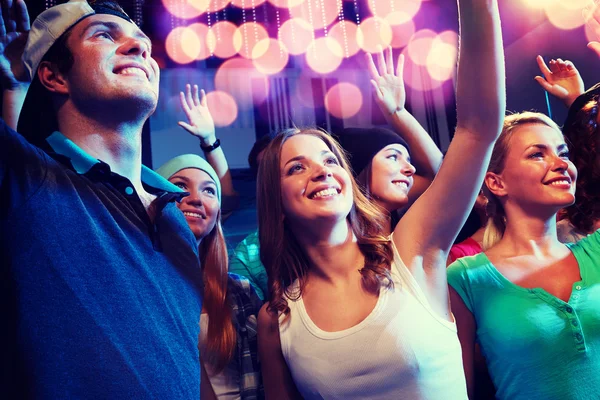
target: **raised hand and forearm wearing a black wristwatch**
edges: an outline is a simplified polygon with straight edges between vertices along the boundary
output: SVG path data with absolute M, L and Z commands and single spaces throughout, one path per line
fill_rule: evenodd
M 187 84 L 185 93 L 179 93 L 179 100 L 181 101 L 181 108 L 188 119 L 188 122 L 179 121 L 179 126 L 200 139 L 201 147 L 214 145 L 217 141 L 215 123 L 208 110 L 204 90 L 198 90 L 198 85 L 194 85 L 192 88 L 190 84 Z M 231 172 L 223 149 L 219 146 L 212 151 L 205 151 L 204 157 L 219 176 L 222 196 L 236 196 L 237 193 L 233 188 Z

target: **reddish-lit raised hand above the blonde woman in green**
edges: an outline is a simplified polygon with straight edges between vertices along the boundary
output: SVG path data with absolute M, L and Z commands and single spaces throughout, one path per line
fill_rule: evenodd
M 535 80 L 548 93 L 560 99 L 570 107 L 575 99 L 585 91 L 583 80 L 579 71 L 571 61 L 552 59 L 546 65 L 542 56 L 537 56 L 536 61 L 544 77 L 536 76 Z

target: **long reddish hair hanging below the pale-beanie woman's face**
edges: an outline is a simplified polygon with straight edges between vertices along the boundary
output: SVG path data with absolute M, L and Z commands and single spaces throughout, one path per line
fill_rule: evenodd
M 221 228 L 221 210 L 215 227 L 202 239 L 198 250 L 204 278 L 203 307 L 208 314 L 203 356 L 219 373 L 231 361 L 236 347 L 231 305 L 227 302 L 229 262 Z

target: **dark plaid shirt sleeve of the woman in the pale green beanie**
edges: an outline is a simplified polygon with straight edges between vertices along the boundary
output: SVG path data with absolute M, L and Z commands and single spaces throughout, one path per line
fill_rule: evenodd
M 256 335 L 258 311 L 262 301 L 248 279 L 232 273 L 229 274 L 227 295 L 233 309 L 233 325 L 237 334 L 237 349 L 232 363 L 237 364 L 240 372 L 241 398 L 264 399 Z

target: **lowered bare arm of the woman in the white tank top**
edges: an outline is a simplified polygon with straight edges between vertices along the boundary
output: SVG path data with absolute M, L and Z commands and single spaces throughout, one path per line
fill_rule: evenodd
M 281 352 L 277 316 L 263 305 L 258 313 L 258 356 L 265 387 L 265 397 L 273 400 L 301 399 Z

